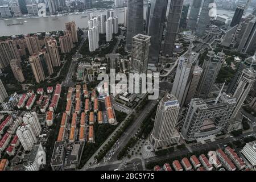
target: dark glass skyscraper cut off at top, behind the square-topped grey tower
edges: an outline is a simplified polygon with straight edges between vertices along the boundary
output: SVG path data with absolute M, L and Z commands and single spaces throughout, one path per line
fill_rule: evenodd
M 127 1 L 127 50 L 131 51 L 133 37 L 143 32 L 143 0 Z

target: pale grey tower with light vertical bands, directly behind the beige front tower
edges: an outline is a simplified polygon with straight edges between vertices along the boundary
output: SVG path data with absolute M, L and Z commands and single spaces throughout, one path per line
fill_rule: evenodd
M 179 58 L 177 71 L 172 86 L 172 92 L 179 101 L 180 107 L 185 103 L 188 95 L 189 86 L 192 82 L 192 74 L 196 66 L 199 53 L 191 52 L 192 47 L 189 47 L 188 52 Z

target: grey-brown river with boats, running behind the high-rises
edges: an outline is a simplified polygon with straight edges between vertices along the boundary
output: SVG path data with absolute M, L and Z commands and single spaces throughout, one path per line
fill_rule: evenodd
M 114 9 L 114 15 L 118 16 L 118 23 L 123 23 L 124 9 Z M 94 10 L 93 15 L 97 16 L 100 14 L 106 15 L 106 10 Z M 168 14 L 168 8 L 167 8 Z M 234 11 L 226 10 L 217 10 L 218 15 L 227 14 L 230 17 L 233 16 Z M 81 18 L 81 16 L 87 16 L 86 18 Z M 32 18 L 6 18 L 0 19 L 0 36 L 11 36 L 11 35 L 21 35 L 21 34 L 30 34 L 35 32 L 44 32 L 44 31 L 57 31 L 64 30 L 65 23 L 75 20 L 76 26 L 80 28 L 88 27 L 88 17 L 89 13 L 80 13 L 80 14 L 68 14 L 64 16 L 56 17 L 32 17 Z M 146 7 L 144 7 L 144 18 L 146 17 Z M 24 21 L 27 21 L 24 23 Z M 7 24 L 14 23 L 23 23 L 16 24 L 13 26 L 7 26 Z

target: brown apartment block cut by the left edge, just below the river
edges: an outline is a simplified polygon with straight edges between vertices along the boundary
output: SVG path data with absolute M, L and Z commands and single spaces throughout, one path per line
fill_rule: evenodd
M 15 42 L 10 39 L 0 40 L 0 68 L 7 67 L 12 59 L 21 61 Z

